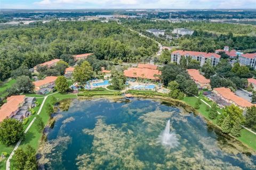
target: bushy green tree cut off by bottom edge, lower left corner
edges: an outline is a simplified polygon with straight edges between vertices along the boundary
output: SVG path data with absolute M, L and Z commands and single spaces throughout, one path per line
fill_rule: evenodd
M 15 150 L 11 159 L 13 169 L 34 170 L 37 169 L 36 150 L 28 145 L 25 149 Z

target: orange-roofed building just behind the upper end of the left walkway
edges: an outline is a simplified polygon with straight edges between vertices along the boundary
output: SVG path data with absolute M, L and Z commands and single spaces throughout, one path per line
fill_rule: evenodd
M 56 79 L 57 77 L 55 76 L 49 76 L 46 77 L 44 80 L 38 80 L 33 82 L 35 85 L 35 92 L 43 95 L 49 93 L 54 89 Z

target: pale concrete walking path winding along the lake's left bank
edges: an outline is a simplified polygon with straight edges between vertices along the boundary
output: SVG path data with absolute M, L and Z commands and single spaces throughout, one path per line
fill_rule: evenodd
M 44 103 L 45 103 L 45 100 L 47 99 L 48 96 L 51 96 L 51 95 L 54 95 L 54 94 L 57 94 L 58 92 L 54 92 L 53 94 L 50 94 L 50 95 L 47 95 L 47 96 L 44 96 L 44 97 L 37 97 L 37 98 L 44 98 L 38 112 L 37 112 L 37 115 L 39 115 L 42 111 L 42 108 L 44 106 Z M 33 120 L 29 123 L 27 129 L 24 131 L 24 133 L 26 134 L 29 130 L 29 128 L 33 125 L 33 123 L 35 122 L 36 120 L 36 117 L 33 118 Z M 20 146 L 20 143 L 21 143 L 22 140 L 19 140 L 18 143 L 16 144 L 16 146 L 14 147 L 13 151 L 11 152 L 9 158 L 7 159 L 7 162 L 6 162 L 6 170 L 10 170 L 10 160 L 12 159 L 13 155 L 14 155 L 14 152 L 15 150 L 18 149 L 18 147 Z

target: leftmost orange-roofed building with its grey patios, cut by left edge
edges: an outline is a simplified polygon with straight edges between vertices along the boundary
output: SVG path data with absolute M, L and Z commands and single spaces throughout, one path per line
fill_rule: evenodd
M 22 120 L 30 113 L 28 109 L 35 106 L 35 97 L 26 97 L 25 95 L 17 95 L 7 97 L 7 103 L 0 108 L 0 122 L 5 118 L 16 118 Z

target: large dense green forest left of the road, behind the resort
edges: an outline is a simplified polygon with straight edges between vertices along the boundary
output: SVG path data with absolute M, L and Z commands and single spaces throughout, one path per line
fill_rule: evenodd
M 94 53 L 98 59 L 140 61 L 155 54 L 155 41 L 116 22 L 36 23 L 0 31 L 0 80 L 21 65 L 34 67 L 62 54 Z

